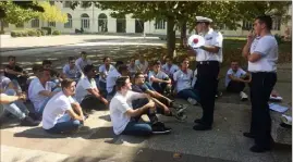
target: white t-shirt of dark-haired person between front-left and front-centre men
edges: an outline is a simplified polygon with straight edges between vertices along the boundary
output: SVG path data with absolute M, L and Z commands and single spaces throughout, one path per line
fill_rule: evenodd
M 83 101 L 83 99 L 90 95 L 87 89 L 95 89 L 97 88 L 97 84 L 94 78 L 90 80 L 85 76 L 80 79 L 80 82 L 76 85 L 76 91 L 75 91 L 75 99 L 78 103 Z

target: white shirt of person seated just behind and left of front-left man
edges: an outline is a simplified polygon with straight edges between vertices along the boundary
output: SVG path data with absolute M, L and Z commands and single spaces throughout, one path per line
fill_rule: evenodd
M 44 102 L 49 98 L 47 96 L 39 95 L 42 90 L 52 91 L 52 88 L 57 85 L 53 82 L 47 82 L 44 87 L 38 77 L 34 78 L 28 86 L 28 98 L 33 102 L 36 111 L 39 111 Z

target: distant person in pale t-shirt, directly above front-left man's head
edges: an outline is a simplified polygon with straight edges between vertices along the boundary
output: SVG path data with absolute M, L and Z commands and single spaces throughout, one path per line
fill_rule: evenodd
M 81 77 L 81 73 L 75 65 L 75 59 L 73 57 L 69 58 L 69 63 L 63 67 L 63 78 L 72 78 L 77 82 Z

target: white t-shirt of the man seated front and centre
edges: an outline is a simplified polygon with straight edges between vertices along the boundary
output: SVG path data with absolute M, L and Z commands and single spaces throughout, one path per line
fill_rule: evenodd
M 129 124 L 131 117 L 126 115 L 126 111 L 132 108 L 132 101 L 135 99 L 143 98 L 143 94 L 127 91 L 125 96 L 117 92 L 110 102 L 110 117 L 113 125 L 115 135 L 120 135 Z

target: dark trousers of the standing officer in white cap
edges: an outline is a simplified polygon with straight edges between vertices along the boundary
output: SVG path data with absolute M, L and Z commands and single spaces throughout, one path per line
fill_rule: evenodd
M 197 62 L 197 87 L 203 107 L 202 122 L 206 126 L 211 126 L 213 122 L 215 94 L 218 87 L 219 71 L 218 61 Z

